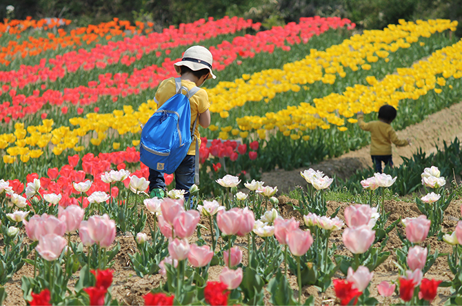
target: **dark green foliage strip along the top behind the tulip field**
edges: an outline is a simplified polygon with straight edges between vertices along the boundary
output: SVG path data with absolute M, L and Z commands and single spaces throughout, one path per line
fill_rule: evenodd
M 152 21 L 156 30 L 225 15 L 251 18 L 265 28 L 298 21 L 300 17 L 344 17 L 359 29 L 382 29 L 399 19 L 451 19 L 462 21 L 462 0 L 0 0 L 0 19 L 63 17 L 86 26 L 113 17 Z M 461 37 L 462 27 L 456 32 Z

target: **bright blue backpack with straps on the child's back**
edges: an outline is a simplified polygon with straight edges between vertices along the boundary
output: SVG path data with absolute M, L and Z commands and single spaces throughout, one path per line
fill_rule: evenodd
M 177 94 L 174 94 L 151 116 L 142 127 L 140 161 L 153 170 L 172 174 L 188 154 L 194 132 L 191 132 L 191 107 L 189 99 L 199 91 L 181 86 L 181 79 L 175 78 Z M 183 94 L 183 91 L 185 94 Z M 196 130 L 197 119 L 194 121 Z M 196 141 L 195 181 L 199 183 L 199 142 Z

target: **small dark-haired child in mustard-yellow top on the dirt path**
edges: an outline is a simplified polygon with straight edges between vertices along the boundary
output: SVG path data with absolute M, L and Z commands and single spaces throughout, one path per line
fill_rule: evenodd
M 396 118 L 396 109 L 392 105 L 383 105 L 379 109 L 379 120 L 363 121 L 363 112 L 356 114 L 359 128 L 370 132 L 370 155 L 375 172 L 382 173 L 382 162 L 393 167 L 392 143 L 399 147 L 410 145 L 409 139 L 399 139 L 390 123 Z

